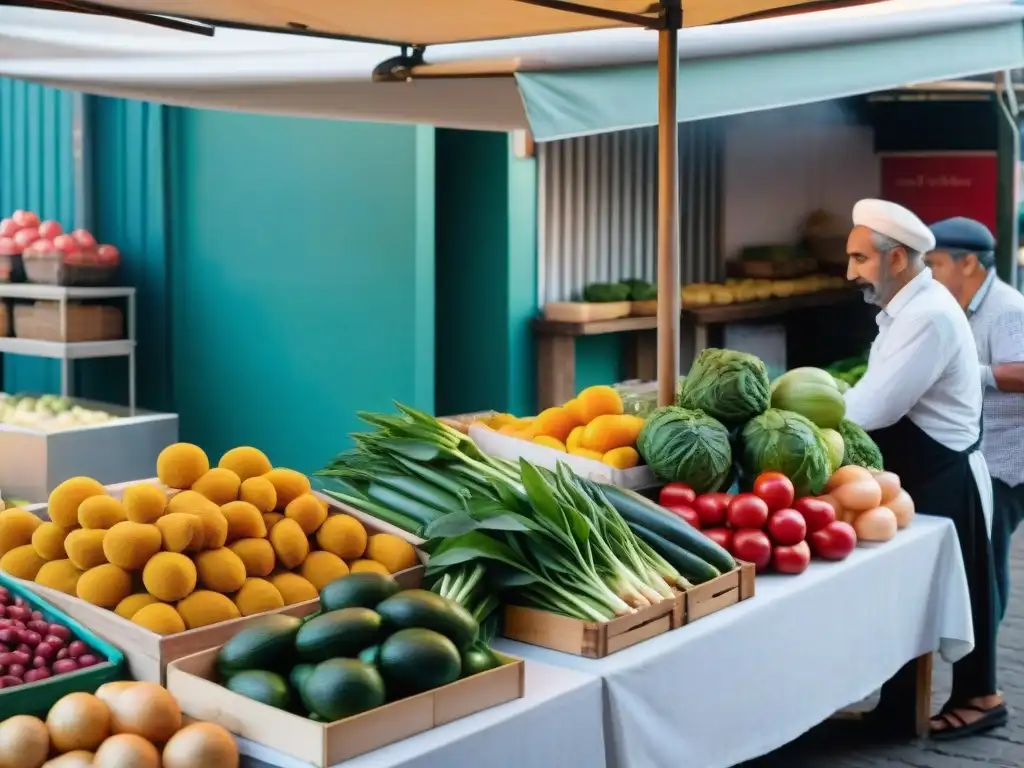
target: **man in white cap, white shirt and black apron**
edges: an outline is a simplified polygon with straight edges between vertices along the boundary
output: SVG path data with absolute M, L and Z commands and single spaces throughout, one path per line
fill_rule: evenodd
M 847 240 L 847 280 L 881 308 L 864 377 L 846 393 L 847 418 L 878 443 L 922 512 L 956 526 L 974 624 L 974 650 L 953 665 L 932 737 L 958 738 L 1007 722 L 995 683 L 995 587 L 989 544 L 991 480 L 981 445 L 978 351 L 964 310 L 932 278 L 932 231 L 894 203 L 862 200 Z M 915 666 L 882 689 L 870 718 L 912 727 Z

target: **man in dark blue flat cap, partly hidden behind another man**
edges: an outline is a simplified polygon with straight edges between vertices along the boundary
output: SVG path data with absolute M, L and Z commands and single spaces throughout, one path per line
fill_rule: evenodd
M 932 274 L 967 312 L 983 389 L 981 451 L 992 473 L 996 625 L 1010 601 L 1010 543 L 1024 518 L 1024 296 L 995 274 L 995 238 L 980 221 L 932 225 Z

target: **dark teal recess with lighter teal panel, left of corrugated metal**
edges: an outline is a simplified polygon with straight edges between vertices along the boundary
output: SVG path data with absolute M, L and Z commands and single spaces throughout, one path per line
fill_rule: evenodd
M 535 409 L 537 163 L 437 131 L 437 413 Z

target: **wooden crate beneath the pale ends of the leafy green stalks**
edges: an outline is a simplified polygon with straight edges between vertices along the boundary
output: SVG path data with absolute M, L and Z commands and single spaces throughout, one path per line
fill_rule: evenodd
M 508 605 L 503 615 L 502 636 L 563 653 L 604 658 L 671 630 L 676 602 L 663 600 L 610 622 L 584 622 L 536 608 Z

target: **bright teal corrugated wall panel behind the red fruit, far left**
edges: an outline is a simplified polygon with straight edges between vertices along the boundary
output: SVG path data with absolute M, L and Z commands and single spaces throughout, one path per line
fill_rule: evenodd
M 0 79 L 0 216 L 24 208 L 74 225 L 72 130 L 71 94 Z M 6 391 L 56 391 L 60 370 L 53 360 L 8 354 L 3 379 Z

